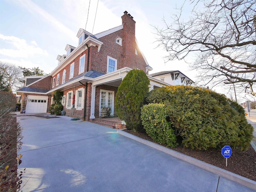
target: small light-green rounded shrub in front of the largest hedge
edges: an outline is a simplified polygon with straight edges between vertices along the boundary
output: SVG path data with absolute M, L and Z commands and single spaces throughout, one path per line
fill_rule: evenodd
M 176 135 L 166 117 L 166 107 L 163 104 L 151 103 L 141 109 L 142 125 L 148 136 L 158 143 L 174 147 L 177 146 Z

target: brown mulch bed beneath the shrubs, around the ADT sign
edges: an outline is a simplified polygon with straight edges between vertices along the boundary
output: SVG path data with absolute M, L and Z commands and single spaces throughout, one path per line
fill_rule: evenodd
M 130 133 L 142 139 L 154 142 L 146 133 L 136 133 L 130 130 L 123 131 L 126 131 L 127 133 Z M 166 147 L 166 145 L 164 144 L 160 145 Z M 191 148 L 184 148 L 182 147 L 182 144 L 179 144 L 178 146 L 170 149 L 256 181 L 256 152 L 251 145 L 246 152 L 241 152 L 238 149 L 232 149 L 232 155 L 230 156 L 230 158 L 228 158 L 227 167 L 226 158 L 222 156 L 221 149 L 211 148 L 208 150 L 194 150 Z

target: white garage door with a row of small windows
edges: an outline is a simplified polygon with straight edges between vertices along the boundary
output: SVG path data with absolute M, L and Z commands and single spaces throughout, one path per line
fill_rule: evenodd
M 28 95 L 26 113 L 46 113 L 47 102 L 47 96 Z

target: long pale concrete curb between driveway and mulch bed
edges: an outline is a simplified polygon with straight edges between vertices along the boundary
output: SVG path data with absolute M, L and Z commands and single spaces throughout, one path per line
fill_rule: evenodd
M 245 177 L 242 177 L 240 175 L 237 175 L 237 174 L 234 174 L 232 172 L 229 172 L 227 170 L 224 170 L 222 168 L 218 168 L 216 166 L 213 166 L 211 164 L 208 164 L 206 162 L 203 162 L 201 160 L 198 160 L 196 158 L 193 158 L 193 157 L 190 157 L 190 156 L 187 156 L 187 155 L 184 155 L 180 152 L 177 152 L 177 151 L 174 151 L 174 150 L 171 150 L 169 148 L 166 148 L 162 145 L 159 145 L 159 144 L 156 144 L 156 143 L 152 143 L 150 141 L 147 141 L 145 139 L 142 139 L 140 137 L 137 137 L 135 135 L 132 135 L 130 133 L 126 133 L 125 131 L 122 131 L 122 130 L 117 130 L 117 133 L 120 134 L 120 135 L 123 135 L 125 137 L 128 137 L 130 139 L 133 139 L 135 141 L 138 141 L 140 143 L 143 143 L 143 144 L 146 144 L 152 148 L 155 148 L 157 150 L 160 150 L 162 152 L 165 152 L 166 154 L 170 154 L 178 159 L 181 159 L 185 162 L 188 162 L 192 165 L 195 165 L 195 166 L 198 166 L 204 170 L 207 170 L 209 172 L 212 172 L 214 174 L 218 174 L 219 176 L 222 176 L 224 178 L 227 178 L 229 180 L 232 180 L 234 182 L 237 182 L 239 184 L 242 184 L 246 187 L 249 187 L 249 188 L 252 188 L 253 190 L 256 190 L 256 182 L 253 181 L 253 180 L 250 180 L 248 178 L 245 178 Z

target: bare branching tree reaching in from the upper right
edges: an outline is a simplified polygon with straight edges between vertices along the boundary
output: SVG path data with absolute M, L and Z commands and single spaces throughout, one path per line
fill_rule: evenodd
M 184 18 L 182 7 L 172 24 L 164 20 L 164 29 L 155 27 L 167 61 L 196 56 L 191 67 L 200 72 L 200 85 L 235 83 L 256 96 L 256 0 L 190 2 L 190 18 Z

